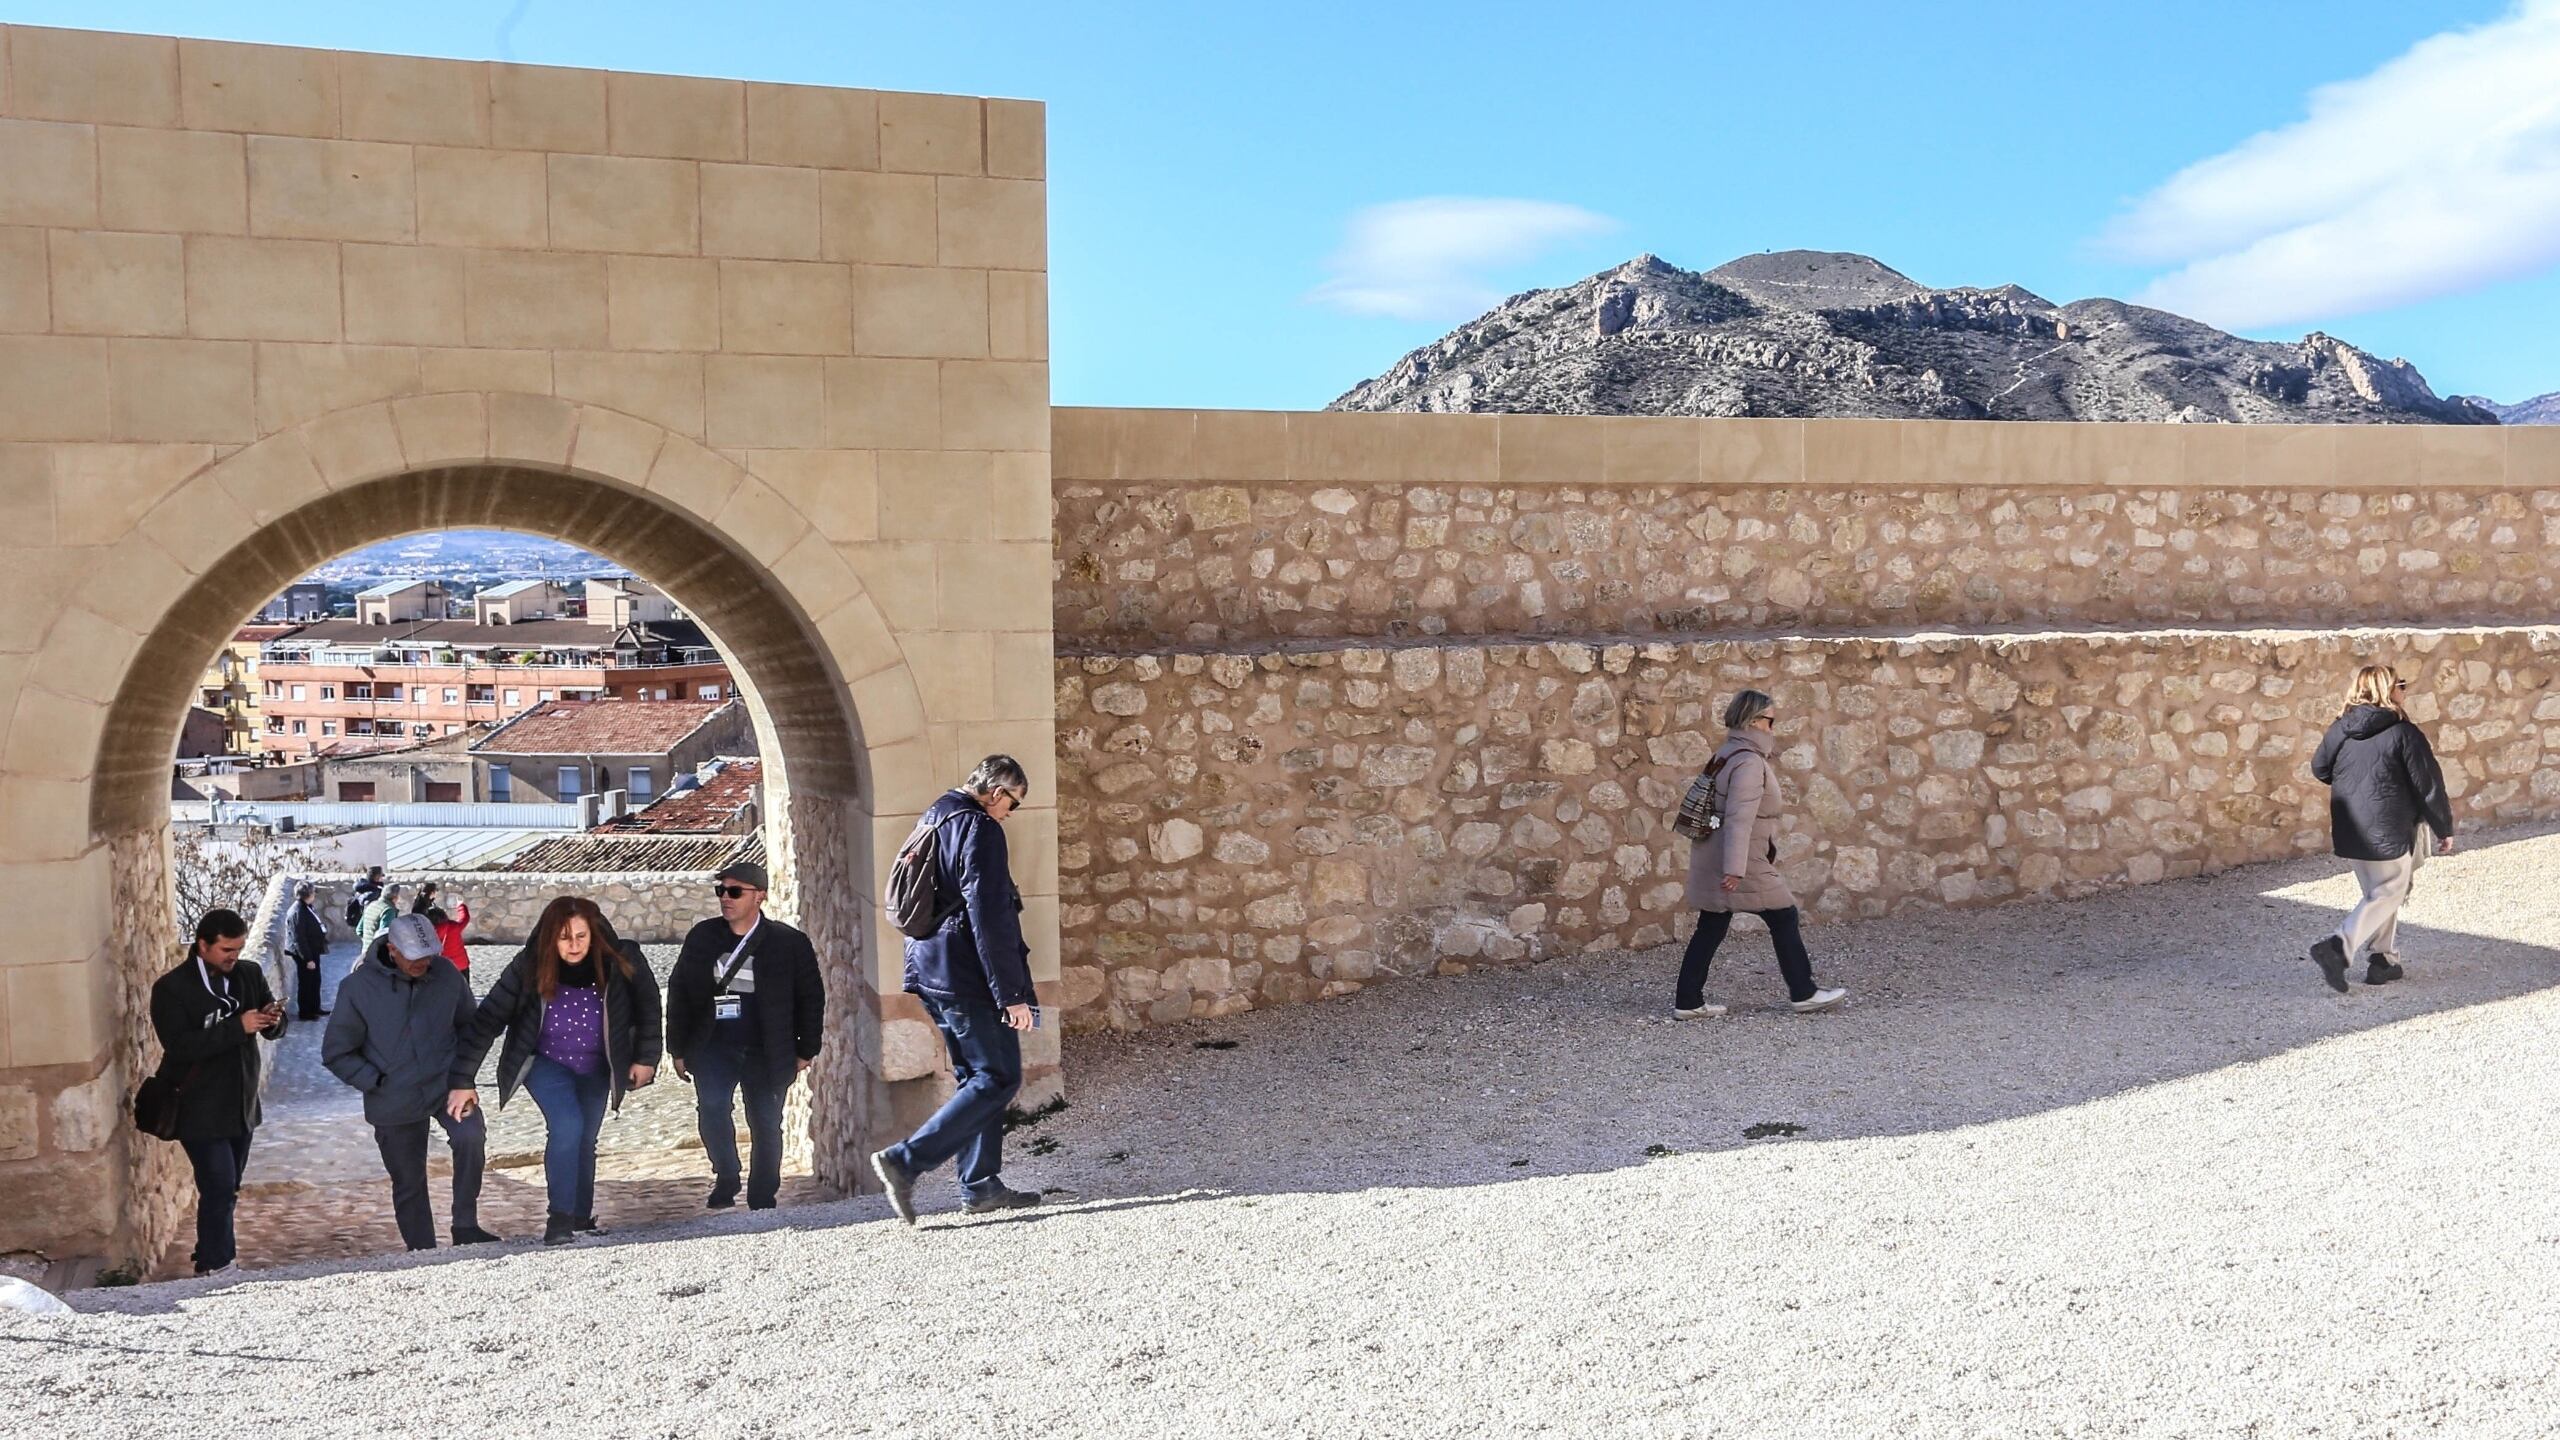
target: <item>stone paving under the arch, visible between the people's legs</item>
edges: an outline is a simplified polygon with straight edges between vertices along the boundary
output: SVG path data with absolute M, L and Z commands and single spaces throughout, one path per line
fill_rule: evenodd
M 471 945 L 471 986 L 486 994 L 515 945 Z M 676 963 L 673 945 L 643 948 L 658 984 Z M 335 1004 L 338 981 L 356 961 L 356 945 L 340 943 L 323 961 L 320 999 Z M 330 1261 L 399 1250 L 392 1225 L 392 1189 L 374 1150 L 374 1130 L 364 1122 L 364 1102 L 338 1076 L 320 1066 L 320 1033 L 328 1020 L 294 1025 L 276 1043 L 274 1074 L 266 1086 L 266 1120 L 248 1156 L 241 1186 L 238 1238 L 241 1266 L 266 1268 L 300 1261 Z M 620 1115 L 604 1120 L 596 1148 L 596 1217 L 609 1227 L 658 1225 L 701 1212 L 712 1166 L 694 1133 L 694 1092 L 660 1068 L 660 1079 L 630 1094 Z M 481 1225 L 507 1238 L 543 1232 L 543 1115 L 517 1094 L 497 1109 L 497 1048 L 481 1061 L 481 1102 L 489 1104 L 489 1174 L 481 1184 Z M 453 1174 L 443 1133 L 428 1143 L 428 1171 L 443 1181 Z M 740 1117 L 740 1143 L 745 1120 Z M 451 1222 L 451 1189 L 433 1186 L 435 1220 Z M 783 1204 L 835 1199 L 835 1191 L 809 1176 L 806 1161 L 783 1168 Z M 192 1222 L 172 1245 L 161 1273 L 184 1273 Z

